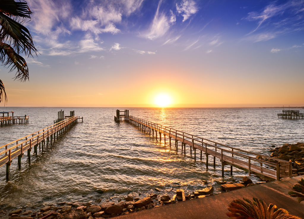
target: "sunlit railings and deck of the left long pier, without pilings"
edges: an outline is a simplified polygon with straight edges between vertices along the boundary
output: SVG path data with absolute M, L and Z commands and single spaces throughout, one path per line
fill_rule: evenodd
M 50 133 L 53 133 L 54 129 L 55 129 L 55 132 L 56 132 L 56 129 L 57 129 L 57 130 L 61 129 L 61 128 L 64 127 L 66 124 L 71 123 L 71 122 L 74 121 L 75 119 L 77 120 L 77 118 L 78 118 L 77 116 L 70 117 L 70 118 L 65 119 L 65 120 L 63 120 L 63 121 L 60 121 L 60 122 L 58 122 L 58 123 L 56 123 L 56 124 L 54 124 L 54 125 L 50 125 L 50 126 L 48 126 L 48 127 L 46 127 L 46 128 L 43 128 L 43 129 L 41 129 L 40 131 L 36 131 L 36 132 L 34 132 L 34 133 L 32 133 L 32 134 L 29 134 L 29 135 L 27 135 L 27 136 L 25 136 L 25 137 L 23 137 L 23 138 L 20 138 L 20 139 L 18 139 L 18 140 L 16 140 L 16 141 L 12 141 L 12 142 L 10 142 L 10 143 L 8 143 L 8 144 L 5 144 L 5 145 L 1 146 L 0 149 L 5 147 L 5 150 L 0 152 L 0 159 L 2 159 L 2 158 L 1 158 L 1 155 L 2 155 L 2 154 L 5 153 L 5 155 L 7 155 L 7 152 L 11 153 L 11 151 L 12 151 L 13 149 L 15 149 L 15 148 L 18 149 L 18 147 L 19 147 L 20 145 L 21 145 L 21 147 L 22 147 L 24 143 L 27 144 L 27 142 L 31 142 L 32 140 L 36 141 L 36 139 L 34 139 L 34 138 L 39 139 L 39 138 L 40 138 L 40 135 L 43 135 L 43 136 L 44 136 L 44 134 L 47 134 L 47 137 L 49 137 L 49 136 L 50 136 Z M 51 132 L 50 132 L 50 130 L 51 130 Z M 42 131 L 42 132 L 41 132 L 41 131 Z M 18 141 L 21 141 L 21 142 L 18 143 Z M 38 140 L 37 140 L 37 141 L 38 141 Z M 15 142 L 16 142 L 16 144 L 15 144 L 15 145 L 12 145 L 12 144 L 14 144 Z M 10 148 L 8 148 L 9 145 L 12 145 L 12 146 L 11 146 Z

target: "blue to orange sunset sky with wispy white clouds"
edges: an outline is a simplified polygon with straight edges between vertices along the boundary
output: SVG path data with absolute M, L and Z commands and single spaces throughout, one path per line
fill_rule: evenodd
M 29 81 L 0 67 L 5 106 L 304 106 L 303 0 L 27 3 L 39 54 Z

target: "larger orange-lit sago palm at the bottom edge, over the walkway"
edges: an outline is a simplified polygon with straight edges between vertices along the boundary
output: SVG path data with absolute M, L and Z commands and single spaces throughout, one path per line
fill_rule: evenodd
M 263 200 L 247 198 L 231 201 L 226 215 L 234 219 L 301 219 L 300 217 L 289 214 L 283 208 L 278 208 L 274 204 L 266 205 Z

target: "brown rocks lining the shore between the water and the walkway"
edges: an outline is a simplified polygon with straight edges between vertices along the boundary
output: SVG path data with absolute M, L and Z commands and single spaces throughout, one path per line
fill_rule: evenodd
M 282 147 L 271 146 L 273 149 L 270 157 L 278 158 L 293 163 L 292 173 L 293 176 L 304 175 L 304 143 L 297 144 L 284 144 Z M 275 162 L 275 160 L 267 159 L 268 161 Z M 214 187 L 209 182 L 202 180 L 202 188 L 192 192 L 192 194 L 185 194 L 183 189 L 176 189 L 176 194 L 170 197 L 168 194 L 146 194 L 146 197 L 140 198 L 140 194 L 132 192 L 127 197 L 121 197 L 116 202 L 111 198 L 102 202 L 99 198 L 91 202 L 61 202 L 57 204 L 50 204 L 42 207 L 39 210 L 35 206 L 29 208 L 19 208 L 15 211 L 5 212 L 0 210 L 0 217 L 2 218 L 22 218 L 22 219 L 103 219 L 116 217 L 123 214 L 131 214 L 136 211 L 142 211 L 154 207 L 160 207 L 166 204 L 174 204 L 179 201 L 190 200 L 194 198 L 203 198 L 213 195 Z M 238 188 L 254 185 L 252 180 L 244 177 L 238 183 L 236 181 L 215 181 L 222 188 L 222 191 L 231 191 Z M 266 181 L 258 182 L 256 184 L 265 183 Z M 103 191 L 97 191 L 102 193 Z M 155 192 L 160 192 L 155 188 Z

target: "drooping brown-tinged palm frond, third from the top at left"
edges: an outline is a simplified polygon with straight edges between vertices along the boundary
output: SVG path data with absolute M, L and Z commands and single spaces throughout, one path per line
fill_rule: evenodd
M 17 54 L 10 45 L 1 42 L 0 61 L 2 62 L 2 65 L 12 66 L 10 71 L 17 69 L 15 80 L 26 81 L 29 79 L 29 69 L 25 59 Z

